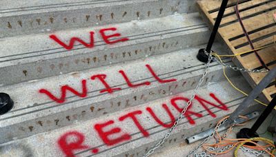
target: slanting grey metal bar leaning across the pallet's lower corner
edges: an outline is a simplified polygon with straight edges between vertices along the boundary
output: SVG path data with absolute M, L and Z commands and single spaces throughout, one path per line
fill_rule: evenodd
M 239 118 L 239 115 L 241 115 L 242 112 L 244 112 L 244 109 L 246 109 L 248 107 L 248 105 L 250 105 L 250 103 L 252 103 L 252 101 L 254 101 L 254 99 L 257 98 L 257 96 L 259 96 L 259 94 L 262 93 L 264 88 L 266 88 L 268 86 L 268 84 L 273 79 L 275 79 L 275 77 L 276 77 L 276 67 L 273 68 L 273 70 L 270 70 L 268 72 L 268 74 L 266 74 L 264 79 L 262 79 L 262 81 L 259 82 L 259 84 L 253 89 L 252 92 L 250 92 L 250 94 L 244 99 L 244 101 L 242 101 L 241 105 L 239 105 L 239 107 L 237 107 L 237 109 L 235 109 L 235 112 L 233 112 L 230 115 L 230 117 L 228 118 L 228 121 L 226 121 L 226 123 L 228 125 L 232 125 L 233 123 L 235 123 L 235 120 L 237 118 Z

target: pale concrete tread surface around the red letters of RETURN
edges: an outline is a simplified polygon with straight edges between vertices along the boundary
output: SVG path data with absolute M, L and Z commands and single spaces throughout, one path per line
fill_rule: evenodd
M 232 78 L 232 80 L 238 86 L 242 85 L 242 87 L 244 88 L 243 90 L 250 90 L 248 83 L 246 83 L 242 76 L 237 76 L 235 78 Z M 22 147 L 23 145 L 24 147 L 28 147 L 30 149 L 30 152 L 34 156 L 63 156 L 64 154 L 61 151 L 57 143 L 57 140 L 59 140 L 62 135 L 74 131 L 84 135 L 85 140 L 83 142 L 83 145 L 85 144 L 89 146 L 89 149 L 86 148 L 73 151 L 75 155 L 123 156 L 124 154 L 126 154 L 127 156 L 127 154 L 136 155 L 136 153 L 139 152 L 139 155 L 137 156 L 141 156 L 142 154 L 144 154 L 145 149 L 152 147 L 152 145 L 155 144 L 157 140 L 161 139 L 161 137 L 164 136 L 166 132 L 168 132 L 168 128 L 159 125 L 152 118 L 149 112 L 147 112 L 146 108 L 150 107 L 155 112 L 157 117 L 161 119 L 162 122 L 170 123 L 170 118 L 168 117 L 168 114 L 164 112 L 164 108 L 162 108 L 161 105 L 168 105 L 168 108 L 172 112 L 173 116 L 177 117 L 179 112 L 177 112 L 177 109 L 172 107 L 170 101 L 172 100 L 172 98 L 189 98 L 192 93 L 193 91 L 190 90 L 181 94 L 177 94 L 175 96 L 160 98 L 156 101 L 152 101 L 144 105 L 124 109 L 120 112 L 106 114 L 99 118 L 94 118 L 90 121 L 76 121 L 74 125 L 63 127 L 61 129 L 52 130 L 50 132 L 46 132 L 43 134 L 37 134 L 35 136 L 30 136 L 28 138 L 23 138 L 22 140 L 14 140 L 13 142 L 8 143 L 8 145 L 2 144 L 2 147 L 14 147 L 12 145 L 21 145 Z M 208 127 L 211 127 L 215 124 L 215 119 L 222 118 L 233 112 L 237 105 L 239 105 L 239 103 L 241 103 L 242 100 L 245 98 L 245 96 L 243 96 L 239 92 L 235 91 L 232 87 L 230 87 L 227 81 L 221 81 L 219 83 L 210 82 L 208 83 L 208 85 L 201 87 L 199 89 L 199 97 L 204 98 L 205 100 L 210 101 L 211 103 L 215 103 L 215 105 L 219 105 L 219 103 L 215 101 L 215 99 L 209 96 L 210 93 L 215 94 L 215 96 L 219 98 L 219 101 L 224 103 L 228 109 L 224 110 L 219 109 L 218 107 L 207 105 L 207 107 L 210 109 L 210 111 L 208 112 L 208 110 L 204 109 L 204 107 L 200 105 L 199 101 L 193 101 L 193 107 L 190 108 L 189 111 L 197 112 L 204 116 L 201 118 L 198 118 L 195 115 L 190 116 L 190 118 L 192 118 L 192 120 L 195 121 L 196 125 L 192 125 L 191 121 L 188 121 L 187 118 L 182 120 L 177 129 L 172 133 L 172 138 L 169 138 L 167 142 L 177 143 L 179 141 L 183 141 L 187 136 L 191 136 L 193 134 L 196 134 L 197 132 L 201 132 L 203 129 L 208 129 Z M 179 106 L 182 107 L 183 105 Z M 222 107 L 222 105 L 220 105 L 220 107 Z M 141 123 L 141 126 L 145 128 L 146 132 L 148 132 L 148 137 L 144 137 L 144 135 L 139 131 L 139 129 L 137 129 L 137 126 L 133 123 L 133 121 L 131 121 L 131 119 L 126 119 L 124 121 L 118 120 L 119 117 L 124 116 L 127 113 L 137 111 L 141 111 L 141 115 L 138 115 L 137 118 L 139 119 L 139 123 Z M 210 112 L 215 114 L 215 116 L 210 116 Z M 110 146 L 104 144 L 99 135 L 97 134 L 97 131 L 93 127 L 95 126 L 95 124 L 103 124 L 108 121 L 115 121 L 115 124 L 111 125 L 112 127 L 105 128 L 104 132 L 107 132 L 108 129 L 112 129 L 113 127 L 120 127 L 122 130 L 121 133 L 112 134 L 108 136 L 108 138 L 117 138 L 124 133 L 130 134 L 131 139 L 124 140 Z M 37 129 L 37 127 L 39 126 L 35 126 L 32 129 Z M 41 147 L 43 147 L 43 149 L 41 149 Z M 91 152 L 91 150 L 94 148 L 98 149 L 97 154 L 93 154 Z M 45 149 L 47 149 L 47 151 L 44 151 Z

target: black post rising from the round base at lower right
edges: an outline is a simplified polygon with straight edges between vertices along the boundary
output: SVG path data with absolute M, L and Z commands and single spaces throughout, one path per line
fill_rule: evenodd
M 276 106 L 276 96 L 270 101 L 266 109 L 264 109 L 264 112 L 259 116 L 257 121 L 254 123 L 254 125 L 250 129 L 250 133 L 255 133 L 257 132 L 257 129 L 262 125 L 262 123 L 266 120 L 268 115 L 273 111 L 274 107 Z

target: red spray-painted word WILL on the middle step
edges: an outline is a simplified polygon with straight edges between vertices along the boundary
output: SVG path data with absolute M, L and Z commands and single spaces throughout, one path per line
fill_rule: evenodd
M 152 76 L 159 83 L 170 83 L 172 81 L 177 81 L 177 79 L 167 79 L 167 80 L 160 79 L 159 76 L 157 74 L 155 74 L 155 71 L 152 69 L 152 67 L 150 67 L 150 65 L 146 65 L 146 67 L 148 68 L 148 71 L 150 72 L 150 74 L 152 74 Z M 144 83 L 133 84 L 133 83 L 131 83 L 130 79 L 128 79 L 128 76 L 126 75 L 124 70 L 119 70 L 119 73 L 123 77 L 124 81 L 126 81 L 128 87 L 135 88 L 135 87 L 139 87 L 142 85 L 150 85 L 149 81 L 145 81 Z M 109 94 L 112 94 L 113 92 L 115 92 L 117 90 L 121 90 L 120 87 L 117 87 L 117 88 L 110 87 L 110 85 L 105 81 L 106 77 L 107 77 L 106 74 L 95 74 L 95 75 L 91 76 L 91 80 L 94 81 L 97 79 L 105 87 L 103 90 L 100 91 L 100 93 L 108 92 Z M 82 92 L 77 92 L 77 90 L 73 89 L 69 85 L 61 86 L 60 98 L 57 98 L 57 96 L 54 96 L 51 92 L 49 92 L 46 89 L 41 89 L 41 90 L 39 90 L 39 92 L 42 94 L 46 94 L 50 99 L 52 99 L 52 101 L 55 101 L 57 103 L 64 103 L 66 101 L 66 91 L 70 91 L 73 94 L 75 94 L 76 96 L 79 96 L 81 98 L 84 98 L 87 96 L 86 80 L 82 80 L 81 84 L 82 84 Z

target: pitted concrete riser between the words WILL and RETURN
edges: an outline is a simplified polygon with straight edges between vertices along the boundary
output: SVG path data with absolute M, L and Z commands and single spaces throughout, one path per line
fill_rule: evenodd
M 210 72 L 206 76 L 203 85 L 206 84 L 206 81 L 217 82 L 224 78 L 224 76 L 222 76 L 221 69 L 218 70 L 217 67 L 213 68 L 214 69 L 210 70 Z M 105 114 L 117 112 L 121 109 L 125 109 L 126 107 L 133 107 L 135 105 L 148 103 L 157 98 L 163 98 L 165 96 L 178 94 L 186 90 L 195 89 L 201 77 L 199 75 L 201 72 L 203 71 L 199 70 L 197 76 L 193 76 L 193 74 L 190 74 L 191 76 L 187 76 L 188 72 L 186 72 L 186 74 L 180 74 L 179 76 L 174 76 L 174 74 L 171 74 L 168 79 L 177 79 L 176 82 L 158 85 L 155 82 L 155 85 L 152 85 L 153 87 L 148 87 L 145 90 L 138 90 L 136 92 L 134 92 L 135 89 L 128 89 L 126 90 L 126 92 L 116 94 L 117 97 L 114 96 L 114 98 L 110 98 L 108 100 L 106 100 L 106 94 L 103 95 L 98 93 L 98 96 L 92 96 L 92 98 L 88 98 L 83 101 L 79 99 L 79 104 L 81 104 L 80 107 L 74 107 L 74 104 L 77 102 L 72 101 L 71 103 L 70 101 L 68 101 L 68 103 L 63 103 L 59 107 L 55 107 L 56 103 L 51 103 L 47 105 L 49 107 L 40 106 L 32 110 L 29 109 L 29 111 L 26 111 L 28 109 L 25 109 L 23 110 L 23 112 L 14 112 L 16 113 L 16 115 L 23 115 L 16 116 L 14 118 L 8 118 L 6 122 L 5 120 L 3 120 L 3 118 L 2 120 L 0 120 L 2 121 L 1 123 L 3 125 L 10 123 L 10 125 L 2 127 L 0 133 L 3 135 L 4 138 L 1 138 L 0 143 L 8 142 L 14 137 L 24 138 L 27 136 L 32 136 L 34 134 L 39 134 L 41 132 L 48 132 L 52 129 L 58 129 L 67 125 L 71 125 L 72 123 L 76 123 L 77 121 L 90 120 L 91 118 L 95 118 L 97 116 L 104 116 Z M 235 74 L 237 73 L 232 73 L 230 75 Z M 67 110 L 61 109 L 66 106 L 71 107 L 68 107 L 69 109 Z M 42 111 L 39 112 L 39 109 L 42 109 Z M 44 116 L 45 111 L 48 109 L 52 114 Z M 56 110 L 56 112 L 53 112 L 53 110 Z M 17 121 L 19 121 L 19 119 L 24 119 L 25 121 L 20 121 L 19 123 L 16 123 Z

